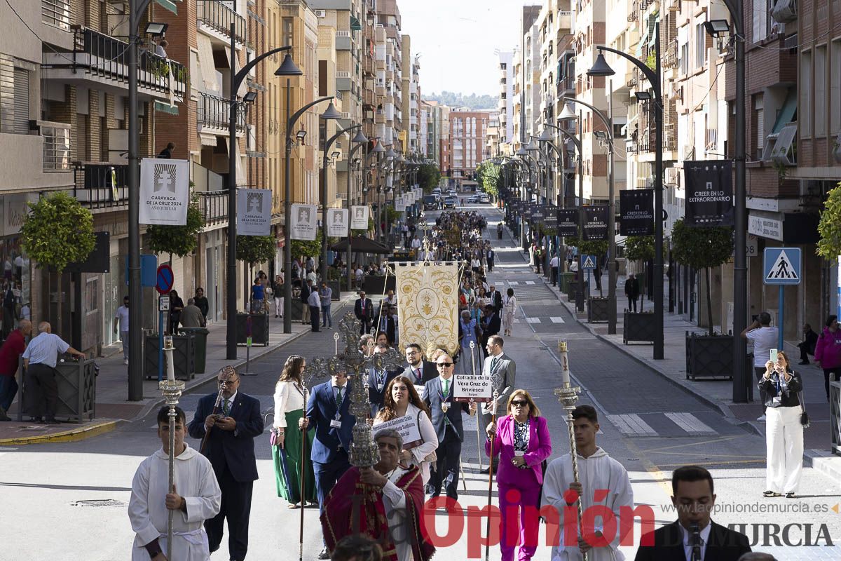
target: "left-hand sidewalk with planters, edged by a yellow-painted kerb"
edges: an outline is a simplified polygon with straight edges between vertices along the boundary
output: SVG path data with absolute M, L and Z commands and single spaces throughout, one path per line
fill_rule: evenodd
M 334 302 L 331 312 L 334 320 L 346 311 L 346 304 L 353 304 L 357 298 L 356 292 L 344 292 L 341 300 Z M 187 380 L 185 392 L 204 384 L 214 378 L 220 368 L 232 364 L 238 372 L 245 372 L 246 347 L 238 347 L 237 358 L 229 361 L 225 358 L 226 323 L 221 321 L 208 326 L 207 360 L 204 373 L 196 373 L 195 378 Z M 283 333 L 283 320 L 269 319 L 269 344 L 251 347 L 250 360 L 262 357 L 278 350 L 289 341 L 308 333 L 309 322 L 304 325 L 300 321 L 292 322 L 292 333 Z M 143 379 L 143 400 L 129 401 L 128 397 L 128 369 L 123 363 L 123 353 L 115 352 L 108 357 L 98 357 L 99 375 L 96 389 L 96 412 L 93 421 L 81 423 L 66 422 L 61 425 L 39 425 L 29 422 L 18 422 L 18 402 L 12 405 L 8 415 L 11 422 L 0 423 L 0 446 L 34 444 L 43 442 L 77 442 L 93 437 L 103 432 L 113 431 L 124 421 L 135 421 L 148 415 L 151 410 L 163 404 L 157 380 Z M 280 366 L 278 365 L 278 375 Z M 18 394 L 18 397 L 20 394 Z M 25 415 L 24 415 L 25 417 Z

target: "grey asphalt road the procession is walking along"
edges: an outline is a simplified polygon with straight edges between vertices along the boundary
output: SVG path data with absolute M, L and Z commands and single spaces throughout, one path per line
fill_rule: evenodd
M 467 208 L 481 209 L 488 221 L 485 236 L 500 244 L 495 235 L 500 212 L 489 205 L 469 204 Z M 427 221 L 434 221 L 436 215 L 427 212 Z M 696 463 L 710 469 L 715 478 L 719 510 L 713 519 L 725 526 L 745 525 L 737 529 L 748 535 L 754 551 L 769 551 L 778 559 L 792 561 L 841 558 L 841 548 L 827 547 L 841 540 L 841 492 L 836 481 L 804 468 L 795 500 L 763 498 L 764 437 L 746 431 L 738 426 L 738 420 L 722 416 L 611 342 L 592 336 L 543 278 L 532 273 L 509 230 L 495 251 L 489 283 L 503 292 L 513 288 L 521 304 L 513 336 L 505 340 L 505 353 L 516 361 L 517 387 L 532 393 L 549 421 L 552 458 L 569 451 L 563 410 L 553 395 L 560 385 L 558 340 L 566 339 L 574 382 L 582 389 L 579 402 L 594 405 L 600 415 L 598 443 L 627 468 L 635 503 L 650 505 L 658 525 L 675 518 L 669 511 L 671 471 Z M 621 294 L 621 289 L 618 292 Z M 376 302 L 381 295 L 369 296 Z M 267 415 L 267 430 L 257 440 L 260 479 L 254 487 L 249 559 L 293 559 L 297 553 L 299 511 L 289 511 L 274 490 L 268 444 L 272 393 L 288 355 L 301 354 L 308 359 L 330 355 L 334 332 L 307 333 L 259 357 L 251 363 L 251 373 L 256 375 L 242 380 L 240 390 L 259 399 Z M 209 383 L 182 397 L 188 421 L 198 399 L 215 391 L 215 385 Z M 486 500 L 487 476 L 478 473 L 476 422 L 468 417 L 465 422 L 468 429 L 462 459 L 467 490 L 459 485 L 459 502 L 463 507 L 481 506 Z M 149 415 L 82 442 L 0 448 L 0 496 L 5 505 L 0 561 L 129 558 L 134 537 L 126 515 L 131 478 L 140 460 L 160 446 L 155 426 L 154 415 Z M 198 446 L 193 439 L 188 442 L 191 447 Z M 484 459 L 482 463 L 486 464 Z M 638 542 L 636 522 L 634 541 Z M 33 527 L 41 531 L 33 533 Z M 61 538 L 33 539 L 36 535 L 46 537 L 49 528 L 61 528 Z M 441 511 L 436 529 L 439 535 L 447 532 L 447 517 Z M 442 559 L 479 558 L 479 552 L 468 550 L 468 532 L 479 531 L 484 533 L 484 519 L 481 523 L 468 521 L 458 542 L 437 554 Z M 544 539 L 542 535 L 541 543 Z M 803 547 L 813 544 L 817 547 Z M 228 559 L 226 547 L 223 540 L 213 558 Z M 304 558 L 315 559 L 320 548 L 318 511 L 306 510 Z M 632 558 L 636 548 L 621 550 Z M 484 548 L 480 553 L 484 557 Z M 549 548 L 541 545 L 537 549 L 536 559 L 550 557 Z M 491 548 L 491 558 L 500 558 L 498 547 Z

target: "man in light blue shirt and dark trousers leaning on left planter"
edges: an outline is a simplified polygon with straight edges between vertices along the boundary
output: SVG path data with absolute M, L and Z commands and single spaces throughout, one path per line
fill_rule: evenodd
M 44 417 L 47 425 L 60 425 L 56 421 L 56 406 L 58 405 L 58 384 L 56 384 L 56 361 L 59 353 L 69 352 L 77 357 L 85 357 L 85 353 L 61 340 L 60 336 L 52 333 L 49 322 L 38 324 L 38 336 L 29 341 L 29 347 L 24 351 L 24 368 L 26 368 L 26 394 L 29 411 L 29 421 L 40 422 Z

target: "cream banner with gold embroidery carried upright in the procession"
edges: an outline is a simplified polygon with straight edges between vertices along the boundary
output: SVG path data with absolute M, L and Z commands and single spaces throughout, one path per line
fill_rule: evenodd
M 399 341 L 417 343 L 429 357 L 437 347 L 458 349 L 458 264 L 394 263 Z

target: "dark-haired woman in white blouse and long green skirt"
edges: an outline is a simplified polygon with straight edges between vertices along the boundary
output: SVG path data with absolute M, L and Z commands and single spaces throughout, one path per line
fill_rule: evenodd
M 304 416 L 304 383 L 302 376 L 307 361 L 299 355 L 290 355 L 283 364 L 278 384 L 274 387 L 274 423 L 272 424 L 272 463 L 278 486 L 278 497 L 288 500 L 288 508 L 302 506 L 301 473 L 304 473 L 304 495 L 309 505 L 315 505 L 315 475 L 309 451 L 312 450 L 313 432 L 307 432 L 307 449 L 301 465 L 302 433 L 298 421 Z M 291 428 L 290 428 L 291 427 Z

